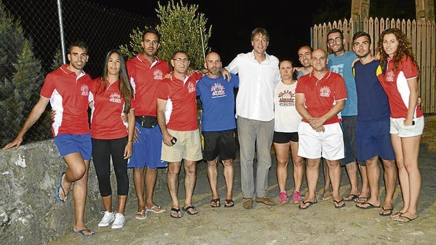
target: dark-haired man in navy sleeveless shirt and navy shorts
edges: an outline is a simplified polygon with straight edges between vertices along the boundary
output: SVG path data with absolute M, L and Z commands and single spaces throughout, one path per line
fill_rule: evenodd
M 353 50 L 359 57 L 354 64 L 356 81 L 357 115 L 356 153 L 359 161 L 366 162 L 370 198 L 356 204 L 363 209 L 380 207 L 379 199 L 379 157 L 384 169 L 386 196 L 379 211 L 382 216 L 392 213 L 392 201 L 395 191 L 397 169 L 395 154 L 389 134 L 389 103 L 377 75 L 382 72 L 378 60 L 371 54 L 371 37 L 366 32 L 357 32 L 353 36 Z

